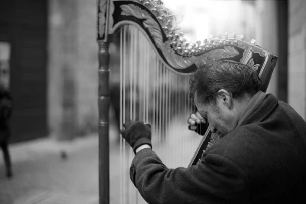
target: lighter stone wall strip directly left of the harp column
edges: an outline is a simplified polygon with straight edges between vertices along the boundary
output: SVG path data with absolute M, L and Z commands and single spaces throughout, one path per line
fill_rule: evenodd
M 77 109 L 78 133 L 98 130 L 97 1 L 78 1 Z

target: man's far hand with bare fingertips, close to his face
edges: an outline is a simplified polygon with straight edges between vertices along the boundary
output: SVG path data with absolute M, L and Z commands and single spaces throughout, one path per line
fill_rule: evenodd
M 199 112 L 191 113 L 187 120 L 189 126 L 188 129 L 196 131 L 200 135 L 204 135 L 207 129 L 207 122 L 205 118 L 201 116 Z

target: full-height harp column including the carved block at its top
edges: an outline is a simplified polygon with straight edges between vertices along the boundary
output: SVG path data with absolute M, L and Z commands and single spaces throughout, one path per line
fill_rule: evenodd
M 110 203 L 110 163 L 109 163 L 109 21 L 111 0 L 97 0 L 98 20 L 97 42 L 99 46 L 99 204 Z

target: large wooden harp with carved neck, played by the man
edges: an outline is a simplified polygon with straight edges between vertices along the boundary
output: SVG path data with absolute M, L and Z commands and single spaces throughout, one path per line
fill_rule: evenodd
M 110 105 L 120 110 L 115 113 L 119 128 L 130 119 L 150 123 L 154 150 L 163 162 L 169 168 L 187 167 L 196 164 L 211 136 L 207 131 L 198 137 L 186 123 L 194 111 L 187 100 L 189 75 L 200 63 L 247 64 L 259 73 L 261 90 L 268 87 L 276 55 L 235 33 L 188 43 L 172 21 L 160 0 L 98 0 L 100 203 L 110 202 Z M 123 140 L 120 152 L 119 193 L 112 199 L 144 203 L 130 182 L 133 152 Z

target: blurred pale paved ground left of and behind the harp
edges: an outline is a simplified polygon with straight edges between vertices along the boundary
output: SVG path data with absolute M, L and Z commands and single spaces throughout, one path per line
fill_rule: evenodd
M 185 122 L 185 120 L 184 120 Z M 181 129 L 183 127 L 181 126 Z M 180 137 L 182 130 L 177 126 L 170 127 L 168 135 L 170 145 L 155 148 L 169 167 L 187 165 L 193 152 L 184 150 L 181 144 L 197 146 L 196 137 Z M 186 126 L 184 125 L 186 131 Z M 116 135 L 110 130 L 111 135 Z M 188 133 L 189 134 L 189 133 Z M 181 134 L 182 135 L 182 134 Z M 191 139 L 193 138 L 193 139 Z M 194 140 L 196 139 L 196 140 Z M 195 144 L 195 145 L 194 145 Z M 156 145 L 157 146 L 157 145 Z M 68 159 L 60 158 L 60 150 L 65 147 Z M 179 147 L 179 148 L 177 148 Z M 169 154 L 172 151 L 172 156 Z M 176 150 L 176 151 L 175 151 Z M 13 173 L 12 179 L 5 177 L 2 156 L 0 157 L 0 204 L 96 204 L 98 203 L 98 137 L 92 135 L 74 140 L 65 146 L 52 139 L 38 139 L 10 146 Z M 186 152 L 189 151 L 187 154 Z M 191 154 L 190 154 L 191 153 Z M 1 154 L 2 155 L 2 154 Z M 143 203 L 136 195 L 135 187 L 129 181 L 129 161 L 120 160 L 120 147 L 116 138 L 110 141 L 110 203 Z M 125 163 L 125 170 L 122 168 Z M 127 189 L 129 200 L 120 195 L 122 177 L 129 183 Z M 126 201 L 127 200 L 127 201 Z M 137 200 L 137 201 L 134 201 Z

